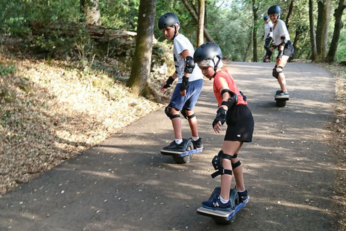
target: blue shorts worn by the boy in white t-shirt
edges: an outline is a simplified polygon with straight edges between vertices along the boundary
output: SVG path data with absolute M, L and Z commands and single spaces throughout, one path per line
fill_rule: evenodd
M 186 96 L 180 95 L 180 85 L 181 83 L 177 83 L 175 86 L 170 104 L 178 110 L 182 110 L 183 107 L 188 110 L 193 110 L 203 87 L 203 79 L 189 82 Z

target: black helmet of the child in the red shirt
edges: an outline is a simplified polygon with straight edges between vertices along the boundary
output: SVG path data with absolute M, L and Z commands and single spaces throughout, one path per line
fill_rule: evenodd
M 207 42 L 199 47 L 193 54 L 193 60 L 195 63 L 200 62 L 205 59 L 213 60 L 215 56 L 218 56 L 219 59 L 222 59 L 222 52 L 220 47 L 216 43 Z

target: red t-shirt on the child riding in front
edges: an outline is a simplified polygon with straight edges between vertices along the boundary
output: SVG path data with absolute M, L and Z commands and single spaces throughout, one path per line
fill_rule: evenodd
M 222 96 L 221 96 L 220 88 L 222 87 L 223 82 L 227 83 L 227 86 L 228 86 L 230 91 L 233 91 L 235 94 L 237 94 L 237 96 L 238 96 L 237 105 L 239 105 L 239 104 L 247 105 L 247 102 L 243 100 L 243 96 L 240 95 L 240 92 L 237 88 L 236 83 L 234 82 L 234 79 L 228 73 L 228 71 L 226 69 L 223 69 L 223 70 L 216 73 L 215 78 L 214 78 L 214 84 L 213 84 L 214 95 L 215 95 L 216 100 L 219 104 L 219 107 L 222 103 Z

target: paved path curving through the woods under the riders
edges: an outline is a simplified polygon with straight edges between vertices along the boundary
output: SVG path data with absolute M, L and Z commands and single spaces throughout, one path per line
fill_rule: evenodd
M 3 195 L 0 230 L 334 230 L 335 171 L 327 144 L 333 75 L 312 64 L 287 64 L 291 98 L 278 108 L 273 65 L 228 65 L 255 118 L 253 142 L 239 153 L 251 201 L 230 226 L 196 214 L 219 185 L 210 161 L 224 137 L 211 129 L 217 104 L 206 80 L 195 108 L 205 149 L 190 163 L 160 154 L 173 133 L 158 110 Z M 187 121 L 183 129 L 190 137 Z

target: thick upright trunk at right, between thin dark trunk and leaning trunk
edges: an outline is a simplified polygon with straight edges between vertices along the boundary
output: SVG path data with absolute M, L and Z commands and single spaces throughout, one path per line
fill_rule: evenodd
M 320 59 L 323 59 L 327 54 L 330 0 L 319 0 L 317 5 L 316 49 Z

